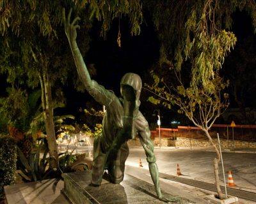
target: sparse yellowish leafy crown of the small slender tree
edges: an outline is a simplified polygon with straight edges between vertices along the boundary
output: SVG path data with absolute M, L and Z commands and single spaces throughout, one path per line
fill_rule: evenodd
M 183 84 L 180 84 L 176 88 L 168 87 L 164 83 L 164 79 L 160 79 L 153 72 L 152 76 L 154 84 L 147 85 L 147 88 L 156 97 L 150 96 L 148 101 L 154 104 L 161 103 L 169 109 L 173 105 L 179 106 L 178 113 L 183 113 L 195 126 L 202 129 L 211 128 L 215 120 L 228 107 L 228 94 L 223 92 L 227 88 L 228 82 L 223 82 L 218 75 L 214 79 L 208 80 L 206 86 L 189 85 L 189 87 L 184 87 Z M 179 82 L 181 82 L 180 79 Z

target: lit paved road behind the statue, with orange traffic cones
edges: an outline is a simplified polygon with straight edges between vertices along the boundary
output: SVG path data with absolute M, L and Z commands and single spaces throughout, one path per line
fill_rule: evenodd
M 188 179 L 201 180 L 214 184 L 212 159 L 214 152 L 200 150 L 155 149 L 159 171 L 176 175 L 177 163 L 181 173 Z M 131 148 L 125 164 L 138 166 L 141 158 L 143 168 L 148 168 L 145 152 L 142 148 Z M 224 168 L 233 170 L 233 179 L 238 189 L 256 192 L 256 154 L 223 153 Z M 221 185 L 224 186 L 220 164 Z M 225 175 L 226 179 L 228 175 Z

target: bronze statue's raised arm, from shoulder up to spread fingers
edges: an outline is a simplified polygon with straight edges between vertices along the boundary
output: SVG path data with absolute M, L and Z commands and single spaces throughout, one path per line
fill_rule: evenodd
M 72 8 L 70 9 L 68 16 L 66 18 L 65 9 L 63 8 L 63 24 L 65 27 L 65 33 L 68 38 L 68 43 L 70 45 L 74 61 L 76 63 L 77 71 L 89 94 L 100 104 L 108 106 L 111 103 L 111 101 L 113 101 L 113 98 L 115 98 L 116 96 L 113 92 L 108 91 L 102 85 L 99 85 L 94 80 L 91 80 L 88 69 L 86 68 L 83 57 L 76 43 L 76 29 L 80 29 L 80 26 L 77 24 L 77 21 L 80 20 L 80 18 L 76 17 L 70 23 L 71 13 Z

